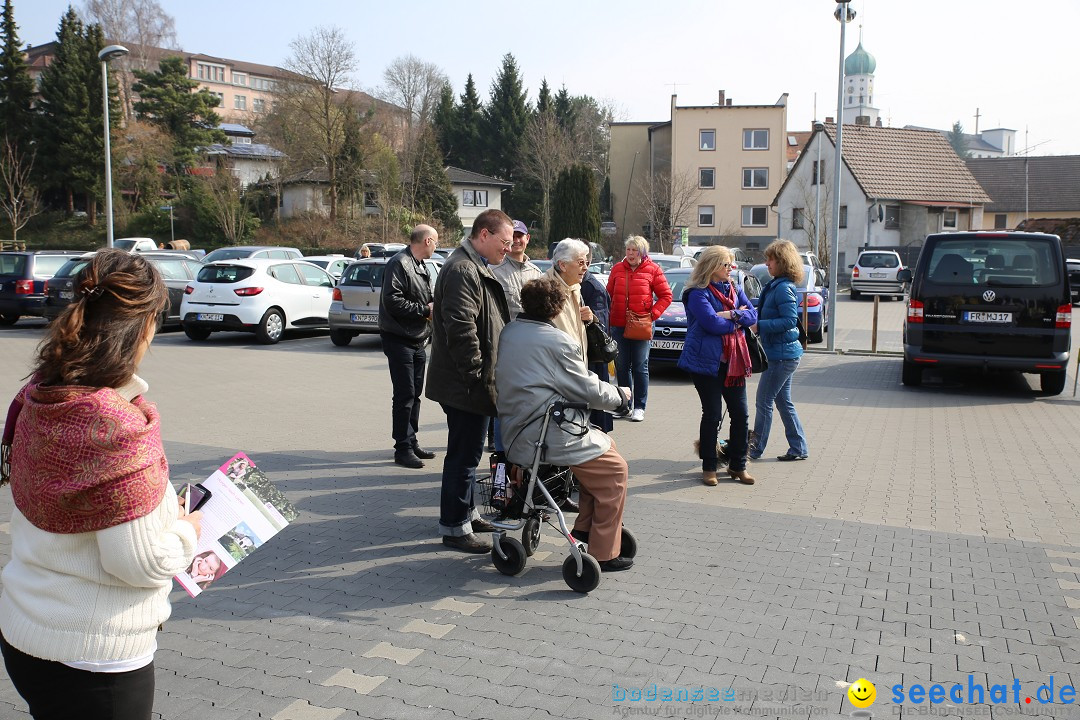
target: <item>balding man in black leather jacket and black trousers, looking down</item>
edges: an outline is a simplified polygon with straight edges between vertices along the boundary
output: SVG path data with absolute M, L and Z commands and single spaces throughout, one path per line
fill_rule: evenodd
M 431 338 L 432 282 L 423 261 L 434 254 L 436 245 L 435 229 L 418 225 L 408 247 L 387 262 L 379 298 L 379 335 L 394 386 L 394 462 L 414 468 L 423 467 L 423 460 L 435 457 L 420 447 L 416 431 Z

